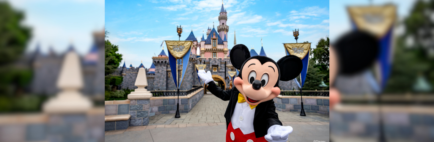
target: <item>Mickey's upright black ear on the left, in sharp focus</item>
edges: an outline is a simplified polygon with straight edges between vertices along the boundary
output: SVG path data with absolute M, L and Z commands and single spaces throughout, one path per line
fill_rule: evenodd
M 229 53 L 230 63 L 235 69 L 240 69 L 244 61 L 250 58 L 249 48 L 244 44 L 237 44 L 232 47 Z

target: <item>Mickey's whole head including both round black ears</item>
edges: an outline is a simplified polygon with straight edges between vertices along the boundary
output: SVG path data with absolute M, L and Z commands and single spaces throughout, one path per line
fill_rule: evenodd
M 280 94 L 279 80 L 296 78 L 303 67 L 300 58 L 293 55 L 282 57 L 277 63 L 265 56 L 250 57 L 249 49 L 243 44 L 230 50 L 230 63 L 240 69 L 233 85 L 251 105 L 276 98 Z

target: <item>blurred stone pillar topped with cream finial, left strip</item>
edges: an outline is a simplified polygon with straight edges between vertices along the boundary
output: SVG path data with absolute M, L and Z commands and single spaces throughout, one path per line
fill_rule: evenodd
M 43 112 L 49 114 L 47 139 L 50 142 L 89 140 L 92 136 L 86 130 L 99 126 L 99 123 L 89 124 L 86 113 L 92 108 L 92 102 L 79 92 L 83 87 L 82 77 L 79 56 L 74 51 L 69 51 L 65 55 L 57 81 L 57 87 L 61 91 L 42 106 Z M 102 121 L 96 122 L 100 122 L 101 128 Z

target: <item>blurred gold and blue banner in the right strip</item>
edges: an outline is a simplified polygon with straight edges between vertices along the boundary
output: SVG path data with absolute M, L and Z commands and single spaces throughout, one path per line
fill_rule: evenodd
M 381 88 L 385 87 L 390 75 L 393 55 L 393 25 L 396 21 L 396 6 L 351 6 L 348 13 L 354 30 L 374 34 L 380 44 L 377 77 Z

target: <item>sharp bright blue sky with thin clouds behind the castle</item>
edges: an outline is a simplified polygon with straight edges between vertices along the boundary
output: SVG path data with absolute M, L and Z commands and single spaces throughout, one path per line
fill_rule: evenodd
M 151 66 L 151 57 L 161 52 L 164 40 L 178 40 L 176 25 L 183 25 L 181 40 L 193 30 L 200 40 L 208 26 L 218 26 L 221 0 L 106 0 L 105 28 L 109 40 L 119 45 L 127 66 L 138 66 L 143 60 Z M 285 56 L 282 43 L 295 43 L 292 35 L 299 28 L 299 42 L 312 42 L 329 36 L 328 0 L 224 0 L 227 9 L 228 48 L 237 44 L 252 46 L 259 54 L 261 37 L 268 57 L 279 60 Z M 165 46 L 164 46 L 165 47 Z M 166 48 L 165 52 L 167 54 Z M 121 63 L 121 66 L 123 63 Z

